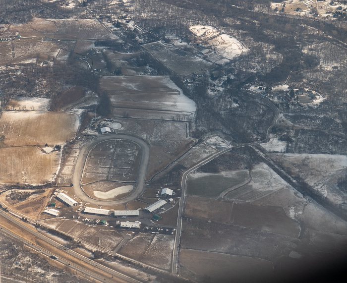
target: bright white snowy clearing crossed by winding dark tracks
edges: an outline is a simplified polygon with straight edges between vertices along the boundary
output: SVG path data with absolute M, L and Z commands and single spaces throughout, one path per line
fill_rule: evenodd
M 194 25 L 189 27 L 189 30 L 222 57 L 232 59 L 247 52 L 247 48 L 236 38 L 221 33 L 212 26 Z

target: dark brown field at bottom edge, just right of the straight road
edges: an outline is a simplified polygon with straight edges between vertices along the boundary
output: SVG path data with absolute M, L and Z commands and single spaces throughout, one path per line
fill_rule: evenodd
M 273 274 L 270 261 L 190 249 L 179 251 L 179 264 L 183 277 L 187 269 L 198 282 L 204 278 L 211 282 L 262 282 Z

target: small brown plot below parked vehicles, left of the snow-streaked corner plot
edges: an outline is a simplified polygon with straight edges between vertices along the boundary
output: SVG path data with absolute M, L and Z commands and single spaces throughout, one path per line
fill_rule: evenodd
M 153 234 L 139 233 L 119 250 L 119 254 L 132 258 L 134 260 L 141 260 L 141 257 L 148 249 L 154 238 Z

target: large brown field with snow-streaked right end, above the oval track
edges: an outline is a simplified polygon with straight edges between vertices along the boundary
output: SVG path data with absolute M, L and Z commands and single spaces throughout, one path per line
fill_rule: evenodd
M 112 107 L 127 109 L 153 110 L 188 115 L 193 118 L 195 103 L 187 98 L 169 77 L 104 77 L 100 86 L 110 96 Z

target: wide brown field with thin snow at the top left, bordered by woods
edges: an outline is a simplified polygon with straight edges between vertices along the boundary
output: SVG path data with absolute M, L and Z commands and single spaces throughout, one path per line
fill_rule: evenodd
M 41 36 L 55 39 L 117 39 L 95 19 L 33 19 L 29 24 L 11 25 L 9 32 L 23 37 Z

